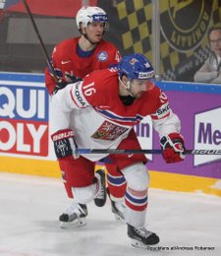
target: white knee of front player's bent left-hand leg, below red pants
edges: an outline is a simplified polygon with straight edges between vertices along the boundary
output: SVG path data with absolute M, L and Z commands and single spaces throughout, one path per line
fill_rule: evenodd
M 80 204 L 87 204 L 94 198 L 96 191 L 96 184 L 92 184 L 86 187 L 73 187 L 72 192 L 74 198 Z

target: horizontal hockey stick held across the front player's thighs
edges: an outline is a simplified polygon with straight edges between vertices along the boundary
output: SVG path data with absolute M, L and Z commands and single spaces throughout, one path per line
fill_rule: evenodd
M 162 150 L 77 149 L 77 154 L 162 154 Z M 221 150 L 186 150 L 187 155 L 221 155 Z

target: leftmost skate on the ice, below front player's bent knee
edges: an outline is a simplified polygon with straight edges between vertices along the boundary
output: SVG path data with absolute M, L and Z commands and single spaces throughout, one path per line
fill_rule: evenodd
M 73 203 L 59 217 L 60 227 L 67 228 L 70 225 L 83 226 L 86 224 L 85 217 L 87 216 L 86 205 Z

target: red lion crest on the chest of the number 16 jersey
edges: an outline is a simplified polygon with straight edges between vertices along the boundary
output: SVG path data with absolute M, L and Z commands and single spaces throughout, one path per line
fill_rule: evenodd
M 91 138 L 114 141 L 128 130 L 128 128 L 119 126 L 108 121 L 104 121 L 101 124 L 101 126 L 95 131 L 95 133 L 91 136 Z

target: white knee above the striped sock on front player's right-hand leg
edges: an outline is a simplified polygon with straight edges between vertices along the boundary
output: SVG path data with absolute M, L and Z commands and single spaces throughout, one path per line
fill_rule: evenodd
M 128 187 L 137 191 L 145 190 L 149 186 L 148 170 L 142 162 L 135 163 L 122 169 Z

